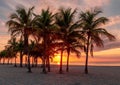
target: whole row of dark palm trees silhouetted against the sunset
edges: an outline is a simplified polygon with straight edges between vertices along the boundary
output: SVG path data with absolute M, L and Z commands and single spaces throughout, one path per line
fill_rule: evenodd
M 0 62 L 5 58 L 8 62 L 15 59 L 19 53 L 20 67 L 23 67 L 23 56 L 26 58 L 25 65 L 28 72 L 31 72 L 31 62 L 37 66 L 38 58 L 42 60 L 42 72 L 50 72 L 50 59 L 55 53 L 60 53 L 59 73 L 63 73 L 62 61 L 63 53 L 67 53 L 66 71 L 69 72 L 69 57 L 71 52 L 80 56 L 85 53 L 85 74 L 88 74 L 88 59 L 93 56 L 95 46 L 103 47 L 104 38 L 110 41 L 115 40 L 115 36 L 110 34 L 102 25 L 109 20 L 100 16 L 102 10 L 94 8 L 80 11 L 76 9 L 60 8 L 57 13 L 48 9 L 42 9 L 40 14 L 34 13 L 34 7 L 26 9 L 17 7 L 15 12 L 6 22 L 11 39 L 8 45 L 0 52 Z M 31 40 L 32 37 L 32 40 Z

